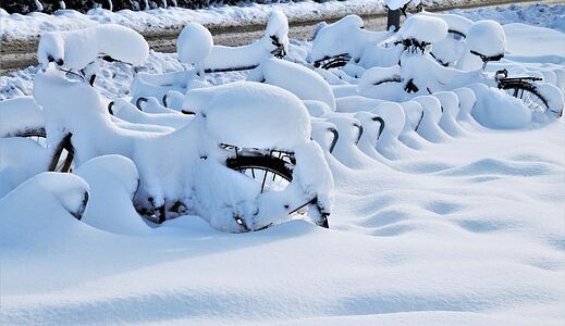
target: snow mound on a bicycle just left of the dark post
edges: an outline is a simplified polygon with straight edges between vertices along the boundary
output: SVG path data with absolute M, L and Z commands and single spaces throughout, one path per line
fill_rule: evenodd
M 322 27 L 312 41 L 310 60 L 318 61 L 339 54 L 359 58 L 367 46 L 378 43 L 390 36 L 388 32 L 370 32 L 363 29 L 363 26 L 361 17 L 348 15 Z

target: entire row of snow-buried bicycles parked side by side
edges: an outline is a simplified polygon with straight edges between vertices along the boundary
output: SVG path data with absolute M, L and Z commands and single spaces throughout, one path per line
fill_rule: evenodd
M 191 23 L 177 41 L 186 68 L 137 73 L 122 99 L 107 99 L 94 85 L 102 61 L 143 65 L 149 50 L 138 34 L 102 25 L 41 37 L 34 97 L 0 103 L 3 148 L 36 162 L 13 159 L 20 171 L 4 193 L 41 171 L 71 172 L 120 154 L 139 172 L 132 204 L 152 223 L 188 212 L 228 231 L 288 216 L 328 227 L 330 155 L 349 167 L 406 158 L 482 128 L 476 117 L 499 109 L 492 99 L 514 105 L 523 121 L 563 111 L 563 68 L 514 78 L 486 70 L 504 57 L 504 30 L 494 22 L 422 13 L 398 32 L 370 32 L 347 16 L 320 25 L 304 61 L 288 54 L 287 33 L 275 11 L 261 39 L 232 48 L 213 45 L 208 29 Z M 245 70 L 245 82 L 207 79 Z

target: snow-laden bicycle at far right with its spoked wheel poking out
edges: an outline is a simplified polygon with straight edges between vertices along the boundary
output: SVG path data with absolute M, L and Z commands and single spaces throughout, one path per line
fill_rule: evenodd
M 433 45 L 445 40 L 449 30 L 445 20 L 433 15 L 408 17 L 394 36 L 378 46 L 388 55 L 382 55 L 377 66 L 364 71 L 358 82 L 359 92 L 370 98 L 404 101 L 415 96 L 479 83 L 503 89 L 507 95 L 521 100 L 533 112 L 562 115 L 563 93 L 555 86 L 543 83 L 538 77 L 508 77 L 505 70 L 494 74 L 486 71 L 489 62 L 504 58 L 505 37 L 498 23 L 477 22 L 466 32 L 466 50 L 459 63 L 477 60 L 481 62 L 480 68 L 470 71 L 441 64 L 438 55 L 432 55 L 430 50 L 433 50 Z M 441 52 L 445 51 L 442 49 Z M 391 66 L 390 62 L 397 62 L 397 65 Z M 462 65 L 465 66 L 464 63 Z

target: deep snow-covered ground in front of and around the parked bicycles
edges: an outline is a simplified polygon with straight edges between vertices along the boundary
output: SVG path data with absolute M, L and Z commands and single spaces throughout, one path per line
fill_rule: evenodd
M 563 17 L 563 5 L 525 11 L 540 8 L 545 26 Z M 515 11 L 495 12 L 521 20 Z M 563 66 L 563 33 L 504 29 L 515 58 Z M 291 55 L 309 47 L 294 42 Z M 180 64 L 175 54 L 152 53 L 148 68 Z M 29 93 L 35 71 L 0 83 Z M 127 73 L 110 65 L 97 86 L 123 96 Z M 17 95 L 7 89 L 7 97 Z M 564 136 L 563 120 L 517 130 L 462 124 L 457 137 L 396 148 L 397 160 L 379 162 L 356 148 L 348 158 L 328 155 L 335 184 L 330 229 L 293 221 L 225 234 L 182 216 L 119 235 L 70 217 L 63 209 L 79 200 L 44 175 L 34 191 L 27 185 L 0 199 L 0 324 L 562 325 Z M 106 183 L 136 186 L 107 173 L 77 171 L 91 191 Z M 63 176 L 72 190 L 85 189 Z

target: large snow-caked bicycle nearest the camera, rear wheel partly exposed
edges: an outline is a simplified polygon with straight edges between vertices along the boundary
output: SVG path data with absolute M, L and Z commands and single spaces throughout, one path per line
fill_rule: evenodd
M 111 47 L 105 53 L 114 54 Z M 183 106 L 195 114 L 176 113 L 185 126 L 136 124 L 112 116 L 87 78 L 57 68 L 51 51 L 42 54 L 47 61 L 33 100 L 44 121 L 30 135 L 29 124 L 15 118 L 12 129 L 20 135 L 8 136 L 46 136 L 57 162 L 46 170 L 70 171 L 106 154 L 127 156 L 139 172 L 134 205 L 156 223 L 195 213 L 228 231 L 297 217 L 328 227 L 333 178 L 310 140 L 308 112 L 291 92 L 250 82 L 194 89 Z M 63 150 L 69 155 L 61 158 Z

